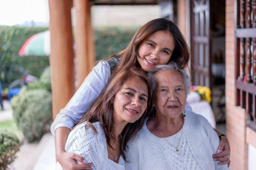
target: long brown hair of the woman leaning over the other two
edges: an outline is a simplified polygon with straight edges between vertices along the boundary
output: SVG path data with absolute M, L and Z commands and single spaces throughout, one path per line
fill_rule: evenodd
M 137 60 L 137 56 L 139 56 L 138 47 L 144 40 L 146 40 L 147 37 L 159 30 L 170 32 L 174 37 L 175 46 L 169 62 L 176 62 L 182 69 L 187 67 L 190 56 L 189 47 L 182 33 L 179 31 L 179 28 L 177 28 L 177 26 L 172 23 L 172 21 L 165 18 L 154 19 L 143 25 L 135 33 L 125 50 L 119 52 L 118 54 L 111 55 L 105 60 L 113 57 L 121 58 L 120 62 L 114 70 L 115 72 L 119 72 L 120 70 L 131 66 L 141 67 Z

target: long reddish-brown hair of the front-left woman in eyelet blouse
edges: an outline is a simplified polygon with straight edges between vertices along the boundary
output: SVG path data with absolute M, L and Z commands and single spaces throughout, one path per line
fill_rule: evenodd
M 104 130 L 107 143 L 112 148 L 112 146 L 110 145 L 110 139 L 115 140 L 115 134 L 112 131 L 114 117 L 112 115 L 113 104 L 111 104 L 111 100 L 115 96 L 116 92 L 118 92 L 119 88 L 125 83 L 125 81 L 129 77 L 134 76 L 139 77 L 141 80 L 143 80 L 143 82 L 146 83 L 148 89 L 148 101 L 147 108 L 143 115 L 136 122 L 128 123 L 123 129 L 121 135 L 119 136 L 120 152 L 124 160 L 124 151 L 126 150 L 128 140 L 133 138 L 133 136 L 136 135 L 136 133 L 142 128 L 143 122 L 149 115 L 148 108 L 151 108 L 151 85 L 148 80 L 148 77 L 146 77 L 142 69 L 138 67 L 128 67 L 120 72 L 113 73 L 110 76 L 108 84 L 101 92 L 100 96 L 97 98 L 95 103 L 90 107 L 90 109 L 85 113 L 84 117 L 77 124 L 79 125 L 85 121 L 87 121 L 89 124 L 99 121 L 100 125 Z M 92 127 L 92 129 L 95 130 L 92 124 L 90 124 L 90 127 Z

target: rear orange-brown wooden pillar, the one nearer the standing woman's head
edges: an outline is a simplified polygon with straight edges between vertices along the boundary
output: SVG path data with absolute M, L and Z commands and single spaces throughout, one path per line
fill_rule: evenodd
M 91 72 L 95 63 L 94 39 L 91 24 L 91 2 L 74 0 L 75 25 L 74 39 L 76 43 L 76 75 L 77 88 Z

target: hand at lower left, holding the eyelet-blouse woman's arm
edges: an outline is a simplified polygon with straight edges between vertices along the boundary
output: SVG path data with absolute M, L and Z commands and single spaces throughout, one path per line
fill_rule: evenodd
M 82 156 L 74 153 L 60 152 L 56 154 L 56 158 L 63 170 L 84 170 L 92 167 L 91 163 L 87 164 L 87 161 Z M 82 164 L 77 163 L 77 161 Z

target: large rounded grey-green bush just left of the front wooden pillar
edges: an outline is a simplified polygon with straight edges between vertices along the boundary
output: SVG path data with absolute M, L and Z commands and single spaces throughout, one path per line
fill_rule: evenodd
M 45 125 L 52 119 L 51 92 L 44 89 L 27 90 L 11 100 L 13 118 L 28 142 L 39 140 Z

